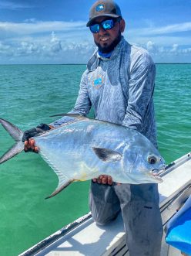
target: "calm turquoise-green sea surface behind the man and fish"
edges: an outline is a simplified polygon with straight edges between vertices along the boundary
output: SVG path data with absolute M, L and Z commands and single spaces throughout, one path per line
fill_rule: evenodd
M 85 65 L 0 66 L 0 117 L 23 131 L 49 123 L 73 107 Z M 191 151 L 191 64 L 156 65 L 155 106 L 159 151 L 172 162 Z M 0 127 L 0 155 L 12 138 Z M 57 186 L 38 154 L 22 152 L 0 166 L 0 255 L 18 255 L 89 212 L 89 182 Z

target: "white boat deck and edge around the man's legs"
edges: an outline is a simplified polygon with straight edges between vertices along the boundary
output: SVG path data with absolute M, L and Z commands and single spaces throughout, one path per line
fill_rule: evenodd
M 171 214 L 170 217 L 172 217 L 177 210 L 173 209 L 172 198 L 176 197 L 176 201 L 179 200 L 179 193 L 183 191 L 183 187 L 189 187 L 187 191 L 190 194 L 190 185 L 191 154 L 189 153 L 169 165 L 169 168 L 166 169 L 165 176 L 163 176 L 163 183 L 159 184 L 160 209 L 163 224 L 166 224 L 166 216 Z M 184 195 L 184 197 L 186 198 L 186 195 Z M 166 204 L 168 204 L 168 207 L 166 207 Z M 174 203 L 174 207 L 176 207 L 176 203 Z M 167 213 L 164 209 L 166 209 Z M 103 227 L 97 226 L 95 222 L 93 222 L 90 213 L 87 216 L 84 217 L 85 220 L 83 220 L 81 224 L 69 230 L 66 234 L 62 235 L 63 230 L 68 229 L 68 227 L 47 237 L 44 241 L 36 244 L 23 254 L 20 254 L 20 256 L 128 255 L 128 249 L 124 241 L 124 229 L 121 216 Z M 76 222 L 78 223 L 80 220 Z M 55 240 L 55 237 L 58 239 Z M 52 242 L 50 243 L 49 241 L 51 240 Z M 181 255 L 179 251 L 173 248 L 169 249 L 166 244 L 163 244 L 162 256 L 169 255 L 167 254 L 168 250 L 173 251 L 170 255 Z

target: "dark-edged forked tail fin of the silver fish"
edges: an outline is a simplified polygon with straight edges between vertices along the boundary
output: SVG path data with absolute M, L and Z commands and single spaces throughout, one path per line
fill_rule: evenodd
M 11 159 L 13 156 L 18 155 L 18 153 L 22 152 L 24 149 L 24 142 L 22 142 L 23 132 L 15 125 L 12 125 L 12 123 L 2 118 L 0 118 L 0 124 L 2 124 L 5 130 L 8 131 L 9 135 L 15 139 L 15 145 L 8 149 L 8 151 L 5 152 L 5 154 L 0 158 L 1 164 L 2 162 L 5 162 L 8 159 Z

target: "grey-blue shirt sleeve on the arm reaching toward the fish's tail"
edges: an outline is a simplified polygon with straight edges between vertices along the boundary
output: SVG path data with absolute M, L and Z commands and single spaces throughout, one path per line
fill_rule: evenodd
M 75 102 L 75 107 L 72 109 L 72 111 L 69 111 L 68 114 L 81 114 L 81 115 L 87 115 L 89 114 L 89 110 L 91 108 L 92 104 L 89 99 L 89 92 L 88 92 L 88 84 L 87 84 L 87 75 L 86 71 L 82 75 L 82 79 L 80 82 L 80 89 L 79 89 L 79 96 L 77 97 L 77 100 Z M 54 121 L 52 126 L 58 127 L 59 125 L 62 125 L 63 123 L 71 120 L 70 117 L 63 117 L 59 120 Z

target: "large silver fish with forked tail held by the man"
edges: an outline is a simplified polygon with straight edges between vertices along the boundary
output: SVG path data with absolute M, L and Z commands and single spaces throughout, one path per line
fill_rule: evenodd
M 46 198 L 55 196 L 72 182 L 100 175 L 112 176 L 116 183 L 163 182 L 159 173 L 165 169 L 165 161 L 139 131 L 78 114 L 63 115 L 69 121 L 33 137 L 39 155 L 59 178 L 59 185 Z M 24 142 L 18 127 L 3 118 L 0 123 L 15 140 L 15 145 L 0 158 L 2 164 L 22 152 Z

